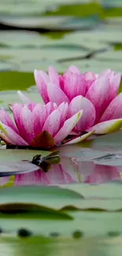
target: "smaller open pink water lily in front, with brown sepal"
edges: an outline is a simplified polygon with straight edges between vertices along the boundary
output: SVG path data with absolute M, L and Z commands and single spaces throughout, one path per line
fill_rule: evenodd
M 0 110 L 0 138 L 6 144 L 50 148 L 61 143 L 69 135 L 82 115 L 79 111 L 67 117 L 68 103 L 63 102 L 57 106 L 48 102 L 46 106 L 42 104 L 13 104 L 13 118 L 9 117 L 4 109 Z M 68 143 L 76 143 L 91 132 L 76 139 L 71 139 Z

